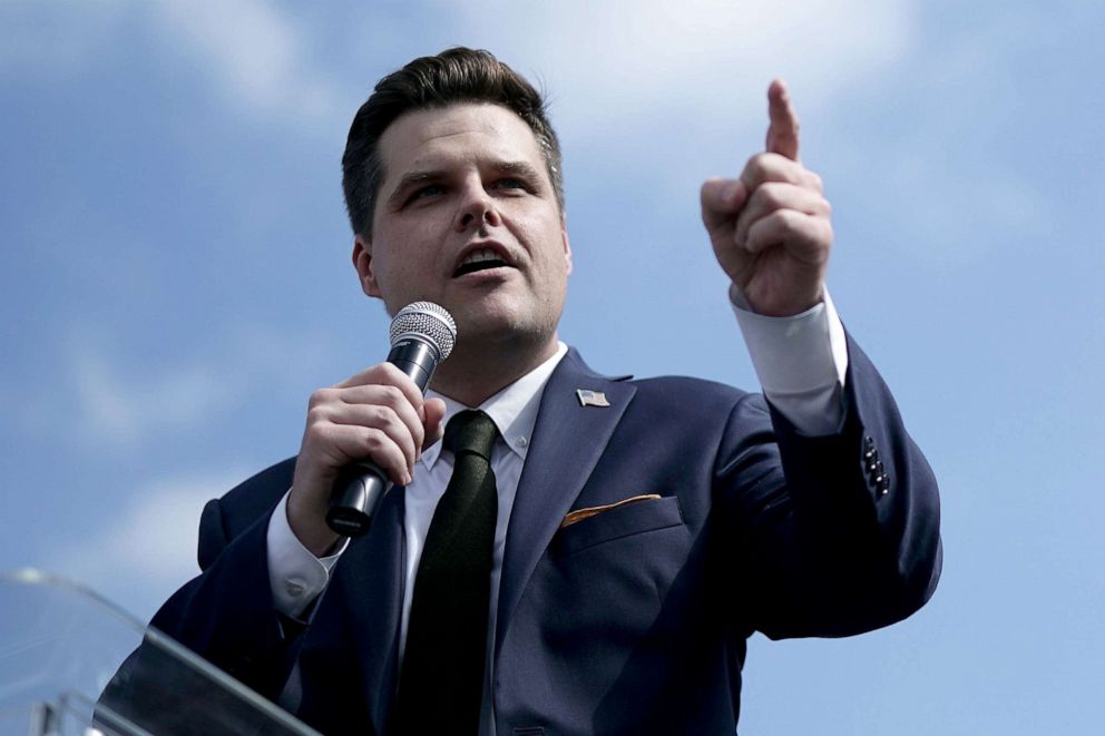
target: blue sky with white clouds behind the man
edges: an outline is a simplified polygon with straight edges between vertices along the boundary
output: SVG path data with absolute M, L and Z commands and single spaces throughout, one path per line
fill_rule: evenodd
M 340 188 L 414 56 L 540 79 L 565 148 L 561 336 L 597 369 L 754 373 L 697 188 L 790 84 L 830 288 L 941 480 L 945 575 L 897 627 L 769 642 L 743 734 L 1088 734 L 1105 719 L 1105 9 L 1048 3 L 0 3 L 0 569 L 148 617 L 202 503 L 385 353 Z

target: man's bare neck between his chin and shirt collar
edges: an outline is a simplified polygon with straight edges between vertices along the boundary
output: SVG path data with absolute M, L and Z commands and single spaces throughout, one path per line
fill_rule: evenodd
M 539 350 L 458 344 L 449 360 L 438 366 L 430 385 L 466 406 L 479 406 L 550 359 L 557 345 L 556 335 Z

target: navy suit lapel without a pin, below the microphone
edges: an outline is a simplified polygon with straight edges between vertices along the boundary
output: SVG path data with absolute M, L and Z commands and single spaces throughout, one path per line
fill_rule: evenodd
M 350 543 L 339 569 L 374 733 L 385 733 L 399 676 L 403 607 L 403 489 L 380 501 L 372 529 Z

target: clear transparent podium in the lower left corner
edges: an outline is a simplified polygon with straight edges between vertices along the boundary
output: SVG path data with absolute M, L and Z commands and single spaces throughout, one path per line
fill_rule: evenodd
M 95 592 L 0 575 L 0 734 L 317 732 Z

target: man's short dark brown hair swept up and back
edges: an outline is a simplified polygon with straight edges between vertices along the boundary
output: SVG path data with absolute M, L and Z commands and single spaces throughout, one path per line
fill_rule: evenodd
M 458 102 L 501 105 L 526 121 L 545 157 L 557 204 L 564 209 L 560 143 L 549 124 L 544 97 L 490 51 L 457 47 L 414 59 L 388 75 L 356 111 L 342 156 L 342 189 L 353 233 L 372 234 L 372 214 L 383 183 L 378 144 L 388 126 L 404 112 Z

